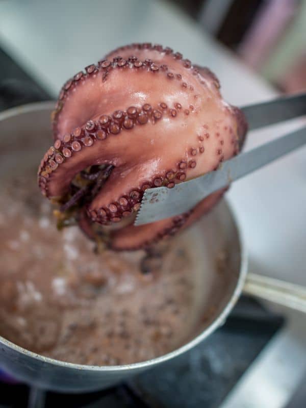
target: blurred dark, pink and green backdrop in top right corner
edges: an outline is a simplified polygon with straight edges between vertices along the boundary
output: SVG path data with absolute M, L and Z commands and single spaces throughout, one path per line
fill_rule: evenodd
M 202 29 L 284 92 L 306 89 L 304 0 L 173 0 Z

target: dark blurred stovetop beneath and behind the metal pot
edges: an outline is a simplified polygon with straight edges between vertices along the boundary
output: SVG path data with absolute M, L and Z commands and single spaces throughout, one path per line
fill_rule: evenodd
M 49 99 L 0 49 L 0 111 Z M 54 407 L 173 407 L 217 408 L 284 319 L 259 302 L 241 297 L 226 323 L 200 345 L 141 376 L 108 390 L 87 394 L 57 394 L 22 384 L 0 382 L 0 408 Z

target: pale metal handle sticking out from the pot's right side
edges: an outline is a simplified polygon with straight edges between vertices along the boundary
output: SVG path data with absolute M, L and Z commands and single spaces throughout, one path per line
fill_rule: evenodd
M 243 293 L 306 313 L 306 287 L 279 279 L 248 273 Z

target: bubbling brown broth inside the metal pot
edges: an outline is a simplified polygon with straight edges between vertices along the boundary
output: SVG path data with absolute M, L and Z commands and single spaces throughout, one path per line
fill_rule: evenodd
M 0 335 L 58 360 L 129 364 L 182 345 L 198 321 L 199 268 L 188 233 L 161 268 L 143 251 L 93 252 L 77 226 L 59 232 L 32 172 L 0 187 Z

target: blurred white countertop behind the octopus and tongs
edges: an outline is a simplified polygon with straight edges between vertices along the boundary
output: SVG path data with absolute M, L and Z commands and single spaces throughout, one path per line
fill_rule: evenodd
M 253 103 L 274 95 L 262 80 L 205 36 L 193 21 L 165 4 L 143 0 L 0 3 L 0 46 L 54 94 L 67 78 L 103 57 L 108 50 L 137 41 L 169 45 L 192 61 L 209 66 L 218 75 L 222 93 L 232 104 Z M 248 137 L 246 149 L 297 125 L 298 122 L 277 125 L 253 133 Z M 306 149 L 236 182 L 227 196 L 240 219 L 253 270 L 306 285 Z M 295 341 L 299 344 L 295 358 L 289 357 L 288 363 L 296 361 L 300 362 L 299 367 L 304 367 L 305 318 L 292 316 L 302 329 L 289 329 L 289 335 L 286 332 L 287 338 L 291 338 L 291 342 L 285 343 L 287 353 Z M 290 376 L 288 366 L 286 370 Z M 292 376 L 292 381 L 298 379 Z M 283 387 L 281 380 L 277 384 Z M 252 385 L 259 391 L 261 384 L 252 382 Z M 291 384 L 288 392 L 292 387 Z M 283 406 L 284 398 L 279 398 L 280 402 L 273 407 Z M 239 402 L 236 406 L 253 405 Z M 272 405 L 259 406 L 271 408 Z

